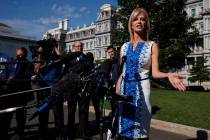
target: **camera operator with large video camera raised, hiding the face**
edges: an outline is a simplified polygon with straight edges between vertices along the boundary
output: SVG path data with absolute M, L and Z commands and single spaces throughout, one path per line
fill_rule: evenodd
M 61 75 L 61 65 L 54 65 L 53 63 L 60 59 L 61 52 L 55 39 L 40 40 L 37 42 L 38 47 L 31 48 L 32 56 L 36 61 L 46 61 L 45 65 L 36 63 L 34 65 L 35 75 L 31 77 L 32 88 L 38 89 L 41 87 L 51 86 L 56 79 Z M 36 93 L 37 104 L 41 105 L 47 97 L 50 95 L 50 91 L 41 91 Z M 63 101 L 58 102 L 54 108 L 54 119 L 55 127 L 64 127 L 63 120 Z M 48 128 L 49 110 L 41 112 L 39 114 L 39 132 L 42 139 L 47 139 L 47 128 Z

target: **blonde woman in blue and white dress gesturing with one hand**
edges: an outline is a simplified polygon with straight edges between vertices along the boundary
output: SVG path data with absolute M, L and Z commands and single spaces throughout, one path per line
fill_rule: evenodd
M 159 70 L 158 45 L 149 41 L 150 22 L 144 9 L 134 9 L 128 23 L 130 42 L 121 47 L 122 74 L 117 82 L 116 92 L 133 96 L 132 103 L 119 103 L 119 135 L 124 139 L 149 139 L 151 121 L 150 80 L 168 78 L 177 89 L 184 91 L 182 76 L 176 73 L 163 73 Z M 125 62 L 122 58 L 127 58 Z

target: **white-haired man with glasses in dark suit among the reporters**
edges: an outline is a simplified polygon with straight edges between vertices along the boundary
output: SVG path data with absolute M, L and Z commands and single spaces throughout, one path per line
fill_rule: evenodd
M 93 58 L 89 58 L 83 53 L 83 44 L 79 41 L 75 42 L 70 54 L 77 53 L 77 57 L 65 62 L 66 74 L 55 83 L 52 87 L 52 95 L 58 96 L 66 93 L 68 102 L 68 124 L 67 137 L 74 139 L 75 134 L 75 112 L 77 103 L 79 105 L 79 130 L 80 136 L 84 135 L 84 130 L 88 121 L 89 97 L 81 94 L 84 83 L 81 75 L 89 72 L 93 67 Z

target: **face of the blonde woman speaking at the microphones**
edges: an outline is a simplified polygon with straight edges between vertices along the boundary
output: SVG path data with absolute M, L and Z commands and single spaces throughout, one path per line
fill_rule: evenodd
M 131 22 L 133 32 L 142 33 L 146 30 L 146 17 L 144 13 L 139 13 Z

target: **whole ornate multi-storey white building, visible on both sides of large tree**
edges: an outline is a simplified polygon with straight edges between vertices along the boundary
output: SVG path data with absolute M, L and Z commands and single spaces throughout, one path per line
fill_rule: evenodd
M 58 28 L 51 29 L 47 33 L 61 42 L 65 52 L 69 52 L 73 42 L 79 40 L 84 43 L 84 52 L 92 52 L 96 60 L 105 59 L 107 58 L 106 48 L 112 45 L 112 29 L 120 24 L 112 18 L 117 9 L 110 4 L 102 5 L 100 10 L 97 20 L 91 25 L 68 29 L 69 21 L 65 19 L 59 22 Z M 198 57 L 206 58 L 208 60 L 206 65 L 210 68 L 210 15 L 207 14 L 210 13 L 210 0 L 188 0 L 185 10 L 188 16 L 196 18 L 195 26 L 199 30 L 200 38 L 192 46 L 192 53 L 187 56 L 186 66 L 181 73 L 186 76 L 184 82 L 187 85 L 197 85 L 187 81 L 187 78 Z M 204 86 L 206 85 L 210 84 L 206 82 Z

